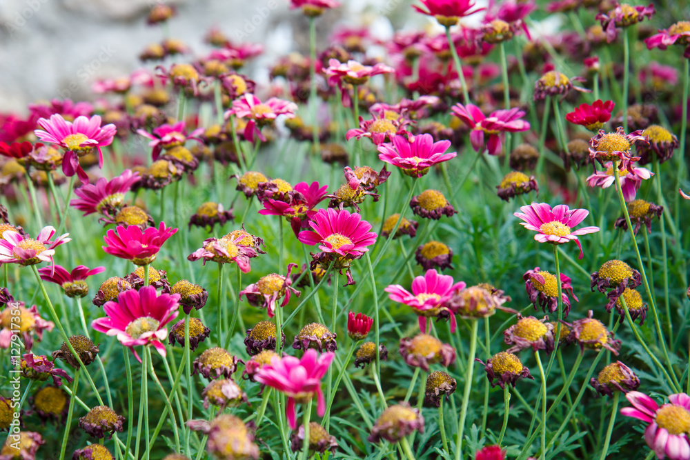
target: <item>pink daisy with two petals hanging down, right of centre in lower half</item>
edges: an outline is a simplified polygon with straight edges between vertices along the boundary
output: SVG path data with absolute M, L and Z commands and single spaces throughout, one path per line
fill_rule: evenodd
M 423 277 L 415 277 L 412 281 L 412 293 L 400 284 L 391 284 L 384 291 L 394 302 L 404 303 L 419 315 L 420 331 L 426 334 L 427 317 L 451 317 L 451 332 L 455 332 L 455 315 L 451 314 L 444 303 L 451 299 L 454 290 L 464 289 L 464 281 L 453 283 L 453 277 L 438 274 L 436 270 L 426 270 Z

